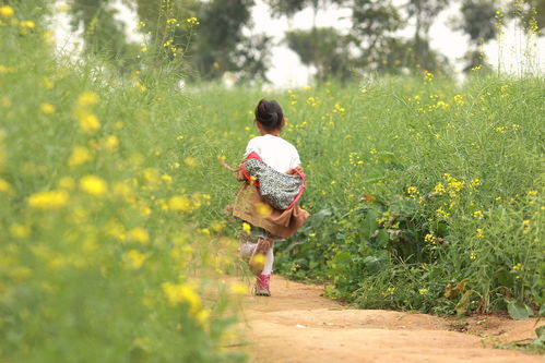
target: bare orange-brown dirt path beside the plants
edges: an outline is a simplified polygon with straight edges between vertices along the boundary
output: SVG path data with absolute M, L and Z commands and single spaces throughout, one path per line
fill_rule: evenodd
M 497 316 L 460 320 L 354 310 L 322 298 L 319 286 L 279 276 L 271 282 L 271 298 L 249 297 L 245 301 L 242 324 L 252 340 L 250 362 L 545 363 L 544 355 L 488 348 L 495 342 L 533 338 L 534 320 Z

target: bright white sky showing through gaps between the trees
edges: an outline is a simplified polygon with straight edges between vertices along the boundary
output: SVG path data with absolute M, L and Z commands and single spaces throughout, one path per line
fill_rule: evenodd
M 401 1 L 401 0 L 395 0 Z M 132 31 L 138 23 L 135 14 L 123 7 L 120 0 L 117 0 L 116 8 L 119 9 L 118 19 L 127 24 L 129 37 L 133 41 L 140 41 L 140 37 Z M 62 3 L 59 1 L 59 3 Z M 459 5 L 451 5 L 449 9 L 439 14 L 437 21 L 430 29 L 431 48 L 437 49 L 449 58 L 457 70 L 463 68 L 461 58 L 465 53 L 469 46 L 469 36 L 462 32 L 453 32 L 449 28 L 449 20 L 457 15 Z M 337 29 L 349 29 L 351 12 L 347 9 L 333 9 L 328 12 L 320 11 L 317 15 L 316 22 L 318 26 L 333 26 Z M 268 7 L 263 0 L 257 0 L 256 7 L 252 9 L 253 28 L 246 29 L 250 34 L 265 33 L 273 37 L 274 47 L 271 51 L 271 69 L 268 72 L 269 78 L 275 86 L 292 87 L 301 86 L 311 82 L 312 70 L 303 65 L 295 52 L 289 50 L 285 44 L 282 43 L 283 34 L 288 28 L 310 28 L 312 24 L 312 11 L 306 9 L 297 13 L 293 20 L 272 19 L 269 14 Z M 60 48 L 70 51 L 73 49 L 74 43 L 80 41 L 78 34 L 70 32 L 68 24 L 68 16 L 63 13 L 57 14 L 54 20 L 56 27 L 56 35 Z M 484 47 L 488 61 L 497 66 L 498 58 L 501 61 L 503 71 L 511 73 L 522 73 L 524 69 L 532 69 L 533 72 L 538 72 L 543 75 L 545 70 L 545 57 L 543 56 L 545 49 L 545 37 L 542 37 L 534 48 L 533 64 L 523 64 L 521 59 L 522 52 L 525 50 L 525 37 L 514 26 L 506 28 L 506 37 L 500 46 L 493 40 Z M 402 36 L 412 36 L 412 29 L 405 29 Z M 498 57 L 498 53 L 500 57 Z

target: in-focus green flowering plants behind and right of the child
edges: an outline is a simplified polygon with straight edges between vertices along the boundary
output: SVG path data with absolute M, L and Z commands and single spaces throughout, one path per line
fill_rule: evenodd
M 360 307 L 463 315 L 543 304 L 543 80 L 473 75 L 464 86 L 426 73 L 268 96 L 284 107 L 312 214 L 276 244 L 280 273 L 322 280 Z M 232 165 L 257 134 L 262 97 L 198 95 L 194 118 Z M 211 178 L 222 210 L 236 184 Z

